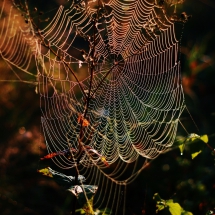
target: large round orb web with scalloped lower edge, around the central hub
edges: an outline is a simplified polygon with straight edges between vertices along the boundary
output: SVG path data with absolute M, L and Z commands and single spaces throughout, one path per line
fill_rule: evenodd
M 98 124 L 89 144 L 110 164 L 118 158 L 130 163 L 139 155 L 155 158 L 172 145 L 184 108 L 178 41 L 173 23 L 165 16 L 161 21 L 156 9 L 147 1 L 80 1 L 61 6 L 41 30 L 63 59 L 38 44 L 45 64 L 38 69 L 43 125 L 54 150 L 68 141 L 77 148 L 77 118 L 90 87 L 85 140 Z

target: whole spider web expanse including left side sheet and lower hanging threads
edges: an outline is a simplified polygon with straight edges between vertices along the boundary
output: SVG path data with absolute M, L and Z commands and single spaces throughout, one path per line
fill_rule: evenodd
M 75 157 L 52 160 L 99 184 L 94 204 L 117 214 L 143 158 L 172 146 L 185 108 L 174 22 L 151 0 L 76 0 L 39 15 L 39 5 L 23 5 L 15 2 L 26 25 L 12 8 L 6 22 L 2 9 L 1 56 L 18 80 L 36 79 L 49 153 L 78 151 L 81 140 L 106 158 L 109 168 L 88 153 L 78 166 Z

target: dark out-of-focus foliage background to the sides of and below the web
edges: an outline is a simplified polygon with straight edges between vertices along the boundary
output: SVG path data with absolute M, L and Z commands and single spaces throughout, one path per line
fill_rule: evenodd
M 56 5 L 60 3 L 56 1 Z M 47 8 L 52 6 L 46 2 Z M 181 40 L 182 82 L 190 112 L 185 110 L 181 121 L 190 133 L 208 134 L 209 144 L 215 148 L 215 2 L 186 0 L 177 10 L 192 15 L 183 28 Z M 14 80 L 14 73 L 1 58 L 0 73 L 1 80 Z M 0 82 L 2 215 L 71 212 L 71 194 L 37 173 L 40 155 L 46 153 L 40 117 L 35 86 Z M 180 126 L 178 135 L 186 135 Z M 178 149 L 162 154 L 129 185 L 127 214 L 155 214 L 154 193 L 163 199 L 173 198 L 195 215 L 215 211 L 214 164 L 206 146 L 193 160 L 186 151 L 181 156 Z

